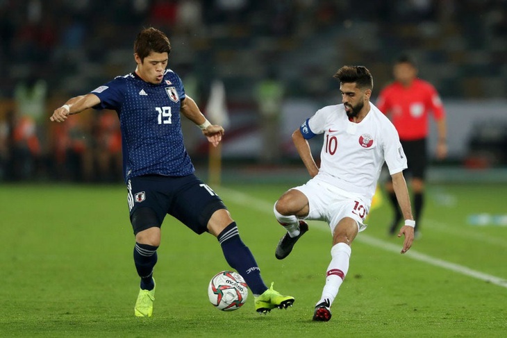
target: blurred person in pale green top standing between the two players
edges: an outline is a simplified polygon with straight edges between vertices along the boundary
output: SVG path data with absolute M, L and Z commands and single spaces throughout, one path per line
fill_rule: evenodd
M 276 71 L 270 68 L 266 78 L 263 78 L 256 88 L 262 138 L 260 162 L 263 164 L 276 164 L 281 161 L 280 123 L 284 94 L 283 83 L 276 76 Z

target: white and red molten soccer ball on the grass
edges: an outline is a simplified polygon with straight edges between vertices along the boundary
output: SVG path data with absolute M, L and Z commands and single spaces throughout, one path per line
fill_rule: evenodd
M 222 271 L 211 278 L 208 297 L 218 310 L 238 310 L 247 301 L 248 285 L 239 273 Z

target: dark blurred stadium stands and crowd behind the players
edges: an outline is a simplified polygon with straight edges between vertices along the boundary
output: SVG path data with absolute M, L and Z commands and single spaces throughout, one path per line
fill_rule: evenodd
M 447 110 L 449 158 L 427 154 L 430 178 L 506 179 L 506 0 L 0 0 L 0 180 L 122 180 L 114 112 L 83 112 L 65 124 L 49 116 L 69 97 L 133 71 L 133 40 L 147 26 L 167 33 L 169 68 L 226 126 L 228 168 L 304 169 L 290 134 L 340 101 L 335 71 L 369 68 L 374 102 L 394 59 L 410 53 Z M 210 99 L 217 96 L 225 105 Z M 183 129 L 205 167 L 206 140 L 191 124 Z

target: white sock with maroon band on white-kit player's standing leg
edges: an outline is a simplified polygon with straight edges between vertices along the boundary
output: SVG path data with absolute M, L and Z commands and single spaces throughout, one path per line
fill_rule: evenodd
M 351 248 L 347 244 L 338 243 L 331 248 L 331 263 L 326 271 L 326 285 L 322 290 L 322 297 L 317 304 L 329 299 L 330 305 L 338 294 L 347 271 L 349 271 Z

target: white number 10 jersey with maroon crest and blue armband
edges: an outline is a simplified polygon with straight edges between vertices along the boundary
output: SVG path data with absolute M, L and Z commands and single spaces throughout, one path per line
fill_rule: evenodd
M 300 128 L 306 140 L 324 133 L 315 179 L 359 194 L 367 203 L 371 203 L 384 161 L 391 175 L 407 168 L 396 129 L 378 108 L 370 106 L 363 121 L 355 123 L 349 121 L 344 105 L 329 105 Z

